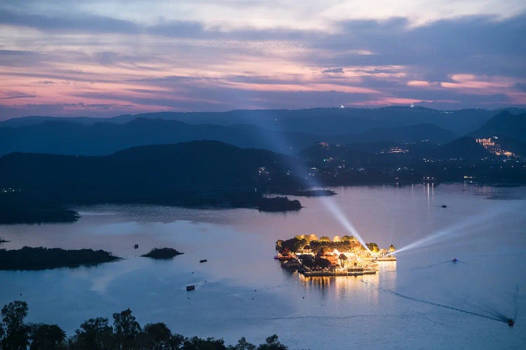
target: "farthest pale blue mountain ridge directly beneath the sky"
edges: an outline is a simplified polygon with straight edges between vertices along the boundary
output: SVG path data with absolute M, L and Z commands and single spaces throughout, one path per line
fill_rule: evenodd
M 524 113 L 523 109 L 510 109 L 512 113 Z M 433 124 L 456 134 L 466 134 L 483 125 L 496 112 L 485 109 L 461 109 L 438 111 L 423 107 L 391 106 L 375 109 L 315 108 L 298 110 L 239 110 L 227 112 L 159 112 L 122 115 L 114 118 L 53 118 L 72 123 L 93 125 L 95 123 L 128 123 L 136 118 L 177 120 L 188 124 L 213 124 L 231 126 L 257 125 L 264 129 L 306 134 L 360 134 L 372 128 L 400 127 Z M 51 117 L 15 118 L 0 122 L 0 127 L 35 125 Z

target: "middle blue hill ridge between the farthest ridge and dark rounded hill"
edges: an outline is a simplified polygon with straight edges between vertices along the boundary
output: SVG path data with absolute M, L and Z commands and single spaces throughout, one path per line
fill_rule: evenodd
M 262 148 L 279 153 L 297 153 L 317 141 L 417 142 L 450 141 L 454 134 L 436 125 L 382 127 L 362 134 L 307 134 L 281 132 L 255 125 L 191 125 L 177 120 L 137 118 L 124 124 L 86 125 L 64 120 L 46 120 L 37 125 L 0 127 L 0 155 L 11 152 L 64 155 L 109 155 L 133 146 L 176 144 L 195 140 L 222 141 L 243 148 Z

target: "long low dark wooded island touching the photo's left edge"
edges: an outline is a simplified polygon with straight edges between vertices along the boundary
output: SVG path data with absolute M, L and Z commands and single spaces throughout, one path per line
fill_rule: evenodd
M 79 267 L 81 265 L 97 265 L 102 262 L 119 259 L 119 257 L 107 251 L 94 251 L 93 249 L 65 250 L 62 248 L 32 248 L 29 246 L 10 251 L 0 249 L 0 269 L 4 270 Z

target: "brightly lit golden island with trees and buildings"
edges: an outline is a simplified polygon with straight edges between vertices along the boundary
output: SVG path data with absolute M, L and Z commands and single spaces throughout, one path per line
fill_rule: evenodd
M 396 248 L 391 244 L 380 249 L 376 243 L 365 246 L 353 236 L 298 235 L 276 241 L 278 255 L 286 269 L 295 269 L 304 276 L 360 276 L 376 274 L 378 262 L 396 261 Z

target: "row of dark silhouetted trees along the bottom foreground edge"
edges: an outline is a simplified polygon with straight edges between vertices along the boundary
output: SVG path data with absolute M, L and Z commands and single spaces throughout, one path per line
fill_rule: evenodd
M 113 314 L 113 325 L 108 318 L 97 317 L 84 321 L 72 337 L 67 338 L 58 325 L 25 323 L 27 303 L 14 301 L 1 310 L 1 349 L 72 349 L 72 350 L 124 350 L 124 349 L 170 349 L 170 350 L 285 350 L 277 335 L 267 338 L 259 346 L 250 344 L 244 337 L 238 344 L 227 346 L 223 339 L 184 337 L 172 333 L 164 323 L 148 323 L 141 327 L 130 309 Z

